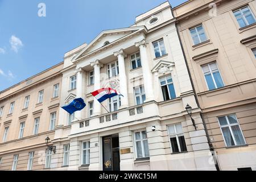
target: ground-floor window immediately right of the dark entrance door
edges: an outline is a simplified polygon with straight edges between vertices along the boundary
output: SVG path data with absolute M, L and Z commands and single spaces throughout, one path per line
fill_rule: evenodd
M 135 132 L 135 146 L 137 151 L 137 158 L 149 157 L 147 131 Z

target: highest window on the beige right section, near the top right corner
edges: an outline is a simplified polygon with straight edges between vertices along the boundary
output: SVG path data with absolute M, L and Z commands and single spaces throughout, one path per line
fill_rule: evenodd
M 256 22 L 255 16 L 251 12 L 249 6 L 242 7 L 238 10 L 233 11 L 234 16 L 237 19 L 240 27 L 246 27 Z

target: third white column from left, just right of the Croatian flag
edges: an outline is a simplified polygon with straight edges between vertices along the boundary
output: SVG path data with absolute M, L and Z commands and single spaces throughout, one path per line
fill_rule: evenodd
M 127 94 L 127 80 L 125 73 L 125 54 L 123 53 L 123 49 L 114 52 L 114 56 L 118 57 L 120 93 L 123 95 L 123 97 L 121 96 L 120 108 L 129 107 Z

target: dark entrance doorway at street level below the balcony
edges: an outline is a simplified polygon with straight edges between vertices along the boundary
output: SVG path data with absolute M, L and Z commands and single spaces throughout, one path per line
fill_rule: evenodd
M 119 138 L 118 135 L 112 135 L 102 138 L 103 144 L 103 170 L 118 171 L 120 170 L 119 158 Z

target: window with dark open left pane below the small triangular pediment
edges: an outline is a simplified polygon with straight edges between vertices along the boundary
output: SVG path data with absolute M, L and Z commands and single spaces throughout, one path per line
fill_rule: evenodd
M 172 82 L 171 75 L 160 78 L 160 85 L 164 101 L 176 98 L 174 83 Z

